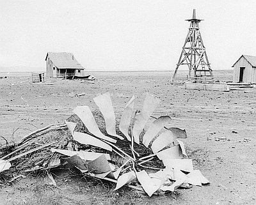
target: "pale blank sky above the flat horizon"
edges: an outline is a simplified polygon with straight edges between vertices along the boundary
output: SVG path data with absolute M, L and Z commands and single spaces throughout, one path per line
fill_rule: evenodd
M 256 56 L 253 0 L 0 0 L 0 67 L 72 52 L 86 70 L 175 70 L 193 8 L 212 70 Z

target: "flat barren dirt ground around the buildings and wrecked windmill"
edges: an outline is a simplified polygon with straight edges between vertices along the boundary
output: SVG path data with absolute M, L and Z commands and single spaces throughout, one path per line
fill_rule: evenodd
M 170 72 L 90 74 L 97 78 L 95 84 L 60 79 L 31 83 L 30 73 L 0 73 L 8 76 L 0 79 L 0 135 L 17 141 L 37 128 L 64 123 L 78 105 L 96 109 L 93 98 L 108 91 L 116 113 L 132 95 L 137 96 L 136 109 L 141 109 L 148 92 L 161 99 L 154 116 L 169 115 L 169 126 L 186 129 L 184 142 L 195 156 L 195 169 L 211 184 L 149 198 L 129 189 L 112 192 L 111 185 L 64 173 L 56 179 L 57 188 L 40 186 L 39 179 L 29 177 L 1 186 L 0 204 L 256 204 L 256 103 L 250 103 L 256 102 L 256 88 L 186 90 L 171 83 Z M 220 81 L 232 80 L 230 70 L 214 75 Z M 76 96 L 81 93 L 86 95 Z

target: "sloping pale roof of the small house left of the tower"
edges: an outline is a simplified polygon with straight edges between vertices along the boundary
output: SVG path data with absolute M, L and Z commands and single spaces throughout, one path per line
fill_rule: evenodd
M 47 52 L 45 61 L 47 60 L 48 56 L 52 63 L 59 69 L 84 69 L 84 67 L 77 62 L 74 55 L 70 52 Z

